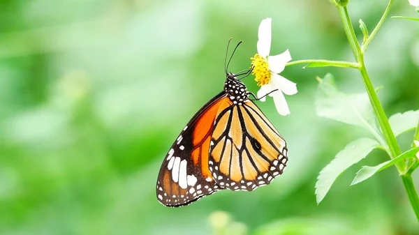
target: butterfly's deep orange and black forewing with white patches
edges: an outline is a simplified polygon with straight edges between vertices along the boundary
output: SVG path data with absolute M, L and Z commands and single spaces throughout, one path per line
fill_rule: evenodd
M 223 91 L 208 101 L 189 121 L 163 160 L 156 195 L 165 206 L 184 206 L 221 190 L 208 166 L 211 134 Z

